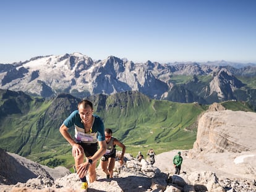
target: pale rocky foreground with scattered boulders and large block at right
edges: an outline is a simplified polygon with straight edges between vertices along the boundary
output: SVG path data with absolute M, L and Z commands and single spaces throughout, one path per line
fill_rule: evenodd
M 153 166 L 147 158 L 139 162 L 126 154 L 123 167 L 116 161 L 112 179 L 97 167 L 97 180 L 89 183 L 89 190 L 255 191 L 255 122 L 254 112 L 215 104 L 198 120 L 194 148 L 179 150 L 184 158 L 180 175 L 174 175 L 172 165 L 177 150 L 157 154 Z M 79 191 L 77 175 L 63 167 L 49 169 L 3 150 L 0 162 L 0 191 Z

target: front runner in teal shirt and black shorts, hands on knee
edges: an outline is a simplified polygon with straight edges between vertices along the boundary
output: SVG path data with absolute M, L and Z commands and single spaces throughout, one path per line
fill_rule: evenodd
M 69 128 L 75 128 L 75 138 L 69 134 Z M 93 104 L 82 100 L 78 109 L 72 112 L 62 123 L 59 131 L 72 146 L 72 156 L 75 160 L 75 169 L 82 182 L 82 190 L 87 191 L 88 183 L 85 177 L 88 170 L 89 182 L 96 180 L 96 162 L 106 152 L 104 124 L 100 117 L 93 114 Z M 98 145 L 100 148 L 98 148 Z M 86 157 L 86 162 L 84 161 Z

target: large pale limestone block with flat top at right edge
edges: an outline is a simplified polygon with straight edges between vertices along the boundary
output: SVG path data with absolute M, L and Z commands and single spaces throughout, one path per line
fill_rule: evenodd
M 255 125 L 254 112 L 230 110 L 206 112 L 198 121 L 194 149 L 204 153 L 254 151 Z

